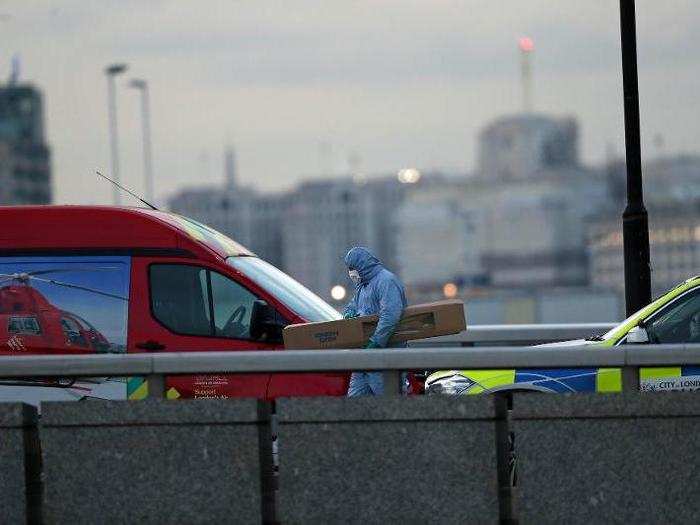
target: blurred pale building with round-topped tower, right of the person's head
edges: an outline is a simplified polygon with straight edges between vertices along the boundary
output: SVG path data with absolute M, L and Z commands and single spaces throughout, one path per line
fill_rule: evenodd
M 573 119 L 499 119 L 481 133 L 474 177 L 411 193 L 397 214 L 408 288 L 436 297 L 586 285 L 585 221 L 610 191 L 605 173 L 579 165 L 576 130 Z

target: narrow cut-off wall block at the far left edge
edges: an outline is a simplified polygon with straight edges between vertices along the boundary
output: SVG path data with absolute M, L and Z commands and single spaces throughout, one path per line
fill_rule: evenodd
M 32 436 L 36 427 L 36 409 L 22 403 L 0 403 L 0 522 L 25 523 L 32 486 L 38 478 L 27 479 L 27 466 L 36 454 Z M 29 465 L 29 476 L 36 472 Z M 27 494 L 27 488 L 30 494 Z M 29 496 L 29 498 L 28 498 Z

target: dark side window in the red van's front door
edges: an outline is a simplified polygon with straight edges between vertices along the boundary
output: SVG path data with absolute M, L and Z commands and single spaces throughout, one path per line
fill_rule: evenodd
M 154 317 L 176 334 L 250 339 L 257 297 L 217 272 L 185 264 L 150 267 Z

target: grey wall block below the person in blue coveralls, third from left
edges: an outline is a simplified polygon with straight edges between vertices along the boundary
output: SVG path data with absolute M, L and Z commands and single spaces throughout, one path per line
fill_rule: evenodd
M 282 399 L 277 414 L 282 523 L 498 521 L 492 396 Z

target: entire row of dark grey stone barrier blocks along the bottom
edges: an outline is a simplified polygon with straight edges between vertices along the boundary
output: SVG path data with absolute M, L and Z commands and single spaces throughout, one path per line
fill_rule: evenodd
M 698 393 L 513 394 L 510 423 L 504 401 L 279 400 L 276 514 L 266 403 L 46 403 L 42 499 L 36 411 L 0 404 L 0 522 L 690 523 L 700 515 Z M 514 508 L 498 489 L 508 431 L 518 458 Z

